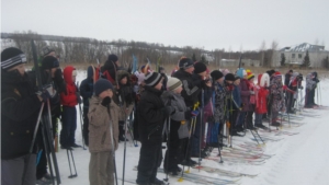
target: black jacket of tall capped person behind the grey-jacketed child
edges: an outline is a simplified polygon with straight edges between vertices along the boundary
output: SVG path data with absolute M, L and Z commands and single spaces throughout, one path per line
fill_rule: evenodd
M 193 105 L 197 102 L 201 89 L 194 84 L 192 74 L 182 69 L 174 72 L 172 77 L 178 78 L 182 81 L 183 91 L 181 94 L 184 97 L 186 106 L 192 109 Z

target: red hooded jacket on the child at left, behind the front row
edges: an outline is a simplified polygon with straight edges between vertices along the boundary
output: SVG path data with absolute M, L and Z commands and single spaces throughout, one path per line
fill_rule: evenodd
M 72 71 L 76 70 L 73 67 L 68 66 L 64 69 L 64 80 L 66 82 L 66 92 L 60 93 L 60 103 L 64 106 L 76 106 L 78 104 L 77 92 L 78 89 L 72 81 Z

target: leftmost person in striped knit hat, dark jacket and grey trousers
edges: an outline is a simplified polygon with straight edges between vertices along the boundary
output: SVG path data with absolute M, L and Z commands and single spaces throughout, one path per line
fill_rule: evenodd
M 29 153 L 42 102 L 50 95 L 47 91 L 35 93 L 25 62 L 24 53 L 18 48 L 1 53 L 2 185 L 35 185 L 36 181 L 37 140 Z

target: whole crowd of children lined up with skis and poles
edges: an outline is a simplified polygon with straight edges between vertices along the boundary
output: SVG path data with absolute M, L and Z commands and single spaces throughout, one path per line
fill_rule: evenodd
M 25 62 L 25 55 L 18 48 L 1 53 L 3 185 L 45 184 L 52 178 L 41 130 L 33 142 L 43 104 L 50 105 L 42 114 L 50 112 L 52 137 L 57 136 L 61 120 L 59 143 L 66 150 L 81 147 L 76 143 L 76 105 L 83 104 L 82 136 L 91 153 L 92 185 L 114 184 L 113 153 L 118 142 L 128 141 L 125 124 L 134 117 L 132 139 L 141 143 L 136 183 L 161 185 L 164 183 L 157 178 L 161 164 L 166 173 L 179 175 L 179 165 L 196 165 L 192 158 L 206 158 L 209 149 L 223 144 L 223 137 L 242 137 L 247 129 L 269 129 L 264 122 L 279 127 L 279 114 L 295 113 L 298 92 L 304 88 L 303 74 L 293 70 L 284 79 L 277 70 L 258 76 L 243 68 L 211 71 L 205 63 L 186 57 L 168 77 L 164 68 L 156 71 L 149 63 L 132 72 L 120 67 L 118 57 L 112 54 L 102 67 L 88 67 L 80 85 L 76 84 L 75 67 L 67 66 L 61 71 L 49 47 L 43 49 L 39 71 L 26 72 Z M 37 83 L 37 72 L 42 84 Z M 306 76 L 307 108 L 317 106 L 314 99 L 318 83 L 317 72 Z

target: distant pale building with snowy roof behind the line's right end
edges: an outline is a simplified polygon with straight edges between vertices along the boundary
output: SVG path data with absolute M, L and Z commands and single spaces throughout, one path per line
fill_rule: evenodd
M 284 47 L 280 50 L 276 50 L 273 55 L 273 66 L 280 66 L 282 54 L 285 56 L 286 66 L 300 66 L 303 65 L 307 50 L 310 60 L 310 67 L 321 68 L 322 60 L 329 56 L 329 50 L 325 50 L 325 46 L 311 45 L 308 43 Z

